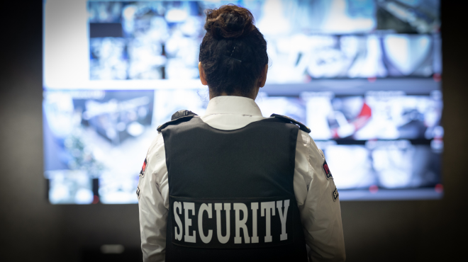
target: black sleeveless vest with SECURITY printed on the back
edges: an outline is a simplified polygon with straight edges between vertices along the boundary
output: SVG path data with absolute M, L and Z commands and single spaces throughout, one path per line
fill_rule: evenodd
M 169 180 L 166 261 L 307 261 L 293 188 L 299 127 L 160 127 Z

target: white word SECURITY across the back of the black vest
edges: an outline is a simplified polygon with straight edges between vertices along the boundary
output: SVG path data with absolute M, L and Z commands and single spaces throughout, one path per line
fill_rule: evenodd
M 260 198 L 252 200 L 260 200 Z M 291 233 L 291 228 L 293 227 L 291 219 L 289 219 L 289 224 L 287 224 L 291 199 L 243 203 L 203 203 L 203 200 L 192 200 L 193 202 L 182 201 L 174 201 L 172 204 L 172 208 L 174 209 L 174 217 L 172 218 L 172 224 L 174 224 L 173 240 L 177 242 L 181 241 L 180 243 L 185 243 L 185 246 L 206 248 L 208 245 L 213 245 L 213 248 L 233 249 L 236 247 L 244 248 L 252 243 L 261 248 L 265 245 L 288 244 L 294 239 L 294 237 L 288 238 L 288 234 Z M 232 214 L 234 223 L 233 239 L 230 238 L 231 208 L 234 212 Z M 258 217 L 259 209 L 260 221 Z M 222 217 L 223 212 L 225 213 L 225 217 Z M 276 215 L 276 212 L 279 213 L 279 220 L 276 217 L 272 217 Z M 252 224 L 250 224 L 250 220 L 252 220 Z M 258 232 L 259 222 L 261 227 L 260 233 Z M 279 231 L 280 224 L 281 231 Z M 264 233 L 262 227 L 265 227 Z M 225 232 L 223 232 L 223 228 L 225 228 Z M 196 234 L 200 236 L 198 241 Z M 262 236 L 259 236 L 259 234 L 262 234 Z M 216 235 L 218 241 L 216 239 L 213 241 L 214 235 Z M 291 234 L 289 235 L 292 236 Z M 264 240 L 260 241 L 260 237 L 263 237 Z

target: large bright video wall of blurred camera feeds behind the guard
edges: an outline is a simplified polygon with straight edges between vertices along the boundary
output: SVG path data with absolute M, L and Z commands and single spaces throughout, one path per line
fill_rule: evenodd
M 267 40 L 264 116 L 306 123 L 341 200 L 442 197 L 440 1 L 45 1 L 45 178 L 54 204 L 137 203 L 156 127 L 203 115 L 204 11 Z

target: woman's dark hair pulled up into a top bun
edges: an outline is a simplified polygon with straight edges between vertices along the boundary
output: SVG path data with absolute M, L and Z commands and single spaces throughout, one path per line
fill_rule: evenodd
M 199 61 L 213 96 L 249 96 L 268 63 L 267 41 L 247 8 L 228 4 L 206 11 Z

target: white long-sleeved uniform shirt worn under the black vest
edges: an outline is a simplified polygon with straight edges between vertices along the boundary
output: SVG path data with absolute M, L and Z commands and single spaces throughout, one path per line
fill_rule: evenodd
M 212 98 L 201 120 L 220 130 L 235 130 L 262 120 L 257 103 L 240 96 Z M 147 152 L 144 176 L 138 181 L 141 248 L 144 261 L 165 261 L 169 186 L 162 133 Z M 323 171 L 324 156 L 308 133 L 299 130 L 296 143 L 294 194 L 310 248 L 310 261 L 345 261 L 339 199 L 333 200 L 335 183 Z

